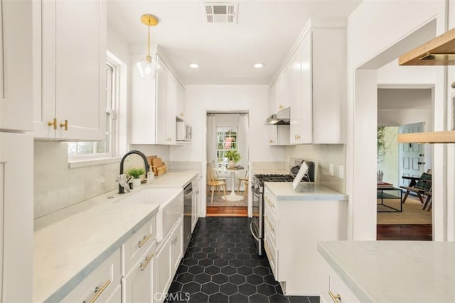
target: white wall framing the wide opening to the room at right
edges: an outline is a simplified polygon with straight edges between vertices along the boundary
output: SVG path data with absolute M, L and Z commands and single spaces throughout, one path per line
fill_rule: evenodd
M 350 197 L 348 234 L 354 240 L 374 240 L 376 233 L 376 207 L 372 205 L 376 196 L 376 70 L 429 40 L 427 35 L 402 39 L 430 20 L 437 18 L 434 35 L 443 33 L 444 5 L 443 0 L 419 1 L 418 4 L 415 1 L 363 1 L 348 18 L 346 189 Z M 371 71 L 357 70 L 360 67 Z M 436 100 L 444 95 L 439 75 L 443 71 L 442 67 L 436 68 Z M 442 106 L 435 104 L 435 108 L 435 113 L 439 113 L 435 116 L 440 115 Z

